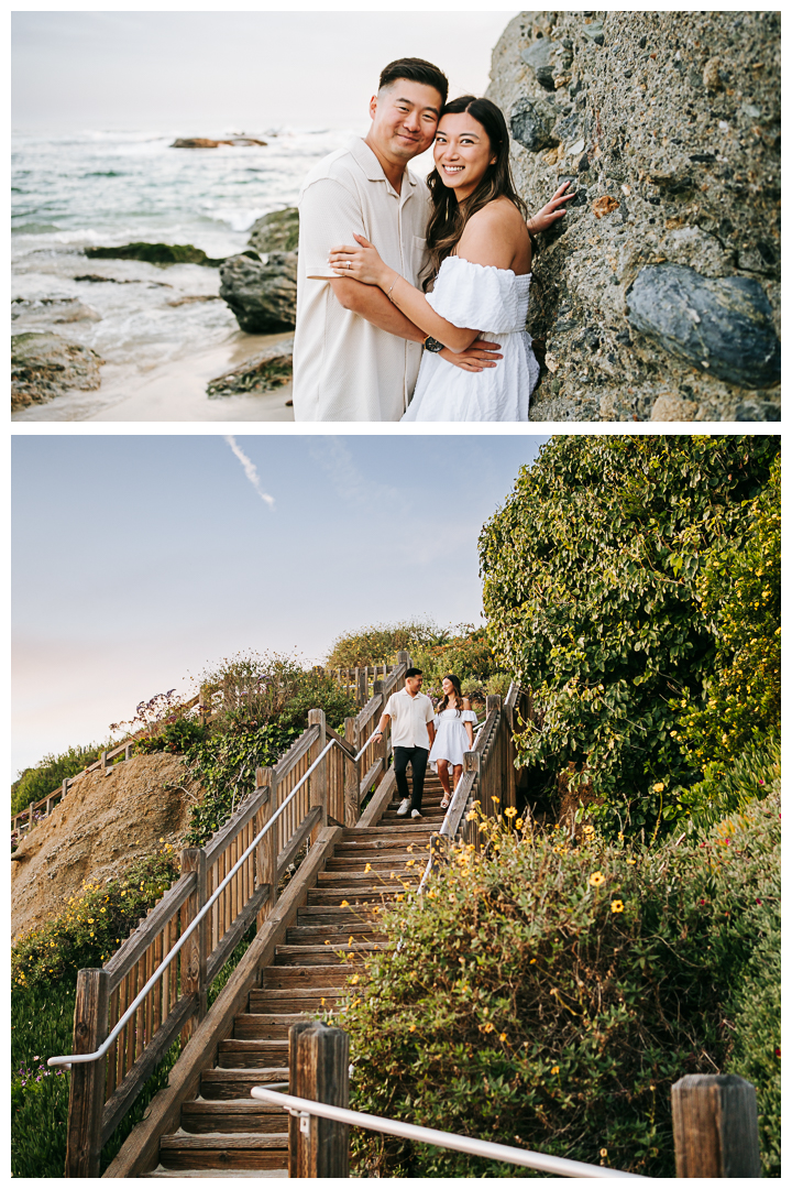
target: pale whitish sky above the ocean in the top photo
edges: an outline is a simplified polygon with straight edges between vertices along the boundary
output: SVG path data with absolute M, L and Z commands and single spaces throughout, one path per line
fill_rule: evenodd
M 14 12 L 17 131 L 367 126 L 379 73 L 435 62 L 483 94 L 517 12 Z

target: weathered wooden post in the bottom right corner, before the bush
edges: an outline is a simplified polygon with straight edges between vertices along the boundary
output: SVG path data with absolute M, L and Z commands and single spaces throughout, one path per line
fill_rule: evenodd
M 756 1092 L 733 1074 L 689 1074 L 671 1087 L 678 1177 L 760 1177 Z

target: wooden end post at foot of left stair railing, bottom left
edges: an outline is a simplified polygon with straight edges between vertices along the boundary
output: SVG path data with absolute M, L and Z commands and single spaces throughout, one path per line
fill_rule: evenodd
M 96 1052 L 107 1039 L 107 970 L 77 974 L 72 1051 Z M 66 1131 L 68 1177 L 97 1177 L 102 1151 L 102 1109 L 107 1056 L 71 1067 Z

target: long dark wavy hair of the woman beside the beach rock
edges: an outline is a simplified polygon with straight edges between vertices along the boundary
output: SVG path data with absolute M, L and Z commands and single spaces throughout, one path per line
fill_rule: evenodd
M 441 120 L 444 115 L 458 115 L 469 112 L 474 120 L 483 127 L 489 137 L 489 144 L 495 156 L 495 164 L 489 165 L 479 185 L 463 202 L 457 202 L 456 194 L 443 182 L 437 169 L 426 178 L 432 199 L 432 215 L 426 228 L 426 247 L 436 275 L 446 256 L 450 256 L 462 239 L 465 224 L 476 210 L 481 210 L 494 199 L 507 197 L 522 218 L 527 218 L 527 208 L 514 189 L 512 169 L 508 159 L 508 128 L 500 107 L 489 99 L 476 99 L 475 95 L 462 95 L 441 108 Z

